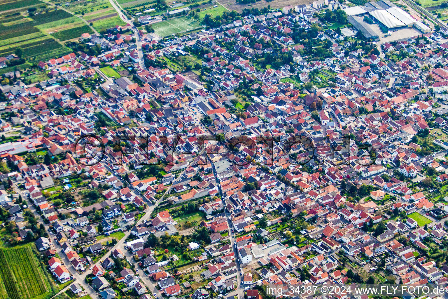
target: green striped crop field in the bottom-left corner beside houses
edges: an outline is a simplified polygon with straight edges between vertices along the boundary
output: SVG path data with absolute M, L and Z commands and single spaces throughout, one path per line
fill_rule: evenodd
M 0 250 L 0 277 L 0 293 L 7 298 L 32 299 L 51 291 L 30 246 Z

